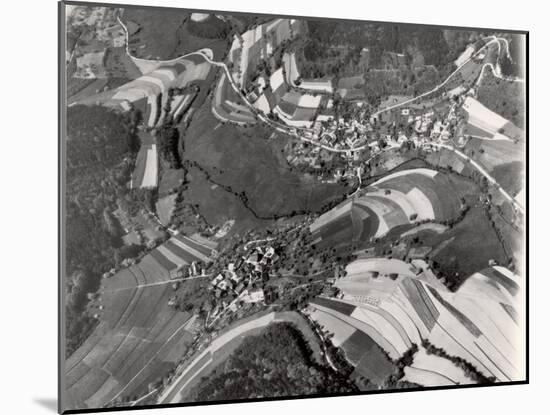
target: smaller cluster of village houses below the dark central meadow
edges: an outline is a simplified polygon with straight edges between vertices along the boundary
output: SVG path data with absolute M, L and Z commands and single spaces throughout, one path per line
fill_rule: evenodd
M 265 300 L 262 288 L 256 288 L 256 281 L 269 279 L 271 265 L 278 256 L 272 246 L 258 246 L 246 256 L 228 265 L 211 281 L 216 299 L 230 304 L 236 298 L 245 303 L 257 303 Z M 236 303 L 233 303 L 235 307 Z

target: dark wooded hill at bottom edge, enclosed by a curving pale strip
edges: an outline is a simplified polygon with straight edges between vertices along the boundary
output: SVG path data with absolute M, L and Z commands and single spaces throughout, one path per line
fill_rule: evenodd
M 291 324 L 248 337 L 194 391 L 198 401 L 357 391 L 351 380 L 320 366 Z

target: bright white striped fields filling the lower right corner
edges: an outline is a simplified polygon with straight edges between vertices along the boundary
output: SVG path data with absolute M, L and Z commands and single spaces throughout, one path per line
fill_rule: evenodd
M 416 344 L 422 347 L 405 367 L 403 378 L 415 384 L 476 383 L 471 371 L 457 365 L 460 359 L 497 381 L 518 376 L 523 370 L 517 337 L 521 322 L 514 310 L 521 301 L 521 277 L 504 267 L 488 267 L 453 293 L 424 282 L 426 270 L 412 272 L 413 268 L 384 258 L 352 262 L 347 275 L 336 282 L 343 297 L 316 298 L 309 313 L 332 333 L 333 344 L 342 348 L 357 371 L 373 347 L 395 362 Z M 390 278 L 392 274 L 396 277 Z M 448 356 L 433 355 L 424 339 Z M 384 359 L 375 361 L 379 366 L 363 376 L 379 383 L 391 373 L 391 362 L 381 371 Z

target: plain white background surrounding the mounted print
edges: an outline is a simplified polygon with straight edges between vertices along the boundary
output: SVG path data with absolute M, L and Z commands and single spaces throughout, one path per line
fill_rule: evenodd
M 134 0 L 128 0 L 134 1 Z M 122 1 L 124 2 L 124 1 Z M 135 0 L 137 4 L 530 30 L 528 386 L 140 411 L 140 414 L 546 412 L 550 275 L 548 10 L 544 2 Z M 535 6 L 536 4 L 536 6 Z M 57 4 L 2 3 L 0 63 L 1 413 L 53 414 L 57 393 Z M 133 412 L 135 413 L 135 412 Z

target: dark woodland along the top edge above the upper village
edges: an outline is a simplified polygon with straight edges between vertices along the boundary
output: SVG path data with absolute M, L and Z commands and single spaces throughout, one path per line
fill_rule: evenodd
M 409 89 L 423 89 L 426 82 L 448 74 L 454 59 L 475 38 L 470 31 L 415 25 L 309 20 L 307 26 L 305 60 L 300 62 L 304 78 L 338 79 L 382 71 L 377 76 L 389 76 L 390 83 L 396 84 L 391 78 L 402 78 L 393 87 L 388 84 L 387 92 L 392 94 L 410 94 L 413 91 Z M 426 79 L 417 73 L 421 68 L 432 68 L 436 76 Z M 383 85 L 385 79 L 370 81 L 366 84 L 376 81 Z

